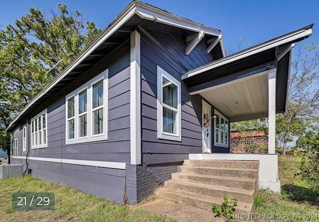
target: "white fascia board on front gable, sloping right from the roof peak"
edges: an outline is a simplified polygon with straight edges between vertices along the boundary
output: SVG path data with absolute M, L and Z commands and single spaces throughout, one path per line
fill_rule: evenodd
M 160 22 L 163 24 L 168 24 L 174 27 L 179 27 L 195 32 L 199 32 L 200 30 L 204 30 L 205 34 L 219 36 L 220 32 L 215 31 L 209 28 L 206 28 L 204 25 L 200 25 L 196 22 L 192 22 L 187 19 L 183 19 L 179 16 L 174 16 L 170 13 L 164 12 L 160 9 L 156 10 L 155 8 L 151 7 L 142 7 L 142 5 L 137 5 L 136 7 L 136 14 L 139 15 L 141 18 Z

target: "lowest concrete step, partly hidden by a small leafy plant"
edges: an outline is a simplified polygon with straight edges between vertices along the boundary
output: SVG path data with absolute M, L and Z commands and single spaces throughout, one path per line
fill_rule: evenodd
M 204 209 L 207 211 L 212 210 L 212 204 L 217 204 L 221 206 L 223 199 L 214 198 L 203 194 L 197 194 L 192 192 L 186 192 L 181 190 L 160 188 L 156 192 L 160 199 L 176 201 L 178 203 L 189 205 L 192 207 Z M 230 197 L 229 197 L 230 199 Z M 236 214 L 247 214 L 250 213 L 252 209 L 252 204 L 245 202 L 238 202 L 238 207 L 235 208 Z

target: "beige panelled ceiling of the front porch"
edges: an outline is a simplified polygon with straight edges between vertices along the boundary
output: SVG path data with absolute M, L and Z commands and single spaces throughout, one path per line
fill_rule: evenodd
M 255 75 L 224 83 L 199 93 L 231 122 L 268 116 L 268 75 Z

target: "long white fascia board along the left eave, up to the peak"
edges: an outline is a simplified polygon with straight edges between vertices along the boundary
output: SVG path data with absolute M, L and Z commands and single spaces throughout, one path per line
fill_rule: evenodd
M 134 5 L 134 4 L 132 4 Z M 108 39 L 115 31 L 117 31 L 125 22 L 127 22 L 133 15 L 135 14 L 135 6 L 128 7 L 127 10 L 123 11 L 117 18 L 117 20 L 110 25 L 108 31 L 103 33 L 98 39 L 92 43 L 92 45 L 88 46 L 87 50 L 83 51 L 74 61 L 70 64 L 64 72 L 56 77 L 56 79 L 51 82 L 46 88 L 44 88 L 36 97 L 34 97 L 22 110 L 21 112 L 14 118 L 13 121 L 10 122 L 8 127 L 5 129 L 6 131 L 11 127 L 11 125 L 31 106 L 33 105 L 39 98 L 45 95 L 48 91 L 50 91 L 57 83 L 59 83 L 65 76 L 67 76 L 78 64 L 80 64 L 88 55 L 90 55 L 97 47 L 99 47 L 106 39 Z

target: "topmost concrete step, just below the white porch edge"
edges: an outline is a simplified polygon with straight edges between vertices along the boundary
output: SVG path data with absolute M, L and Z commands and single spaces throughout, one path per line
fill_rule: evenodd
M 185 160 L 184 165 L 197 167 L 221 167 L 238 169 L 258 169 L 258 161 L 240 161 L 240 160 Z

